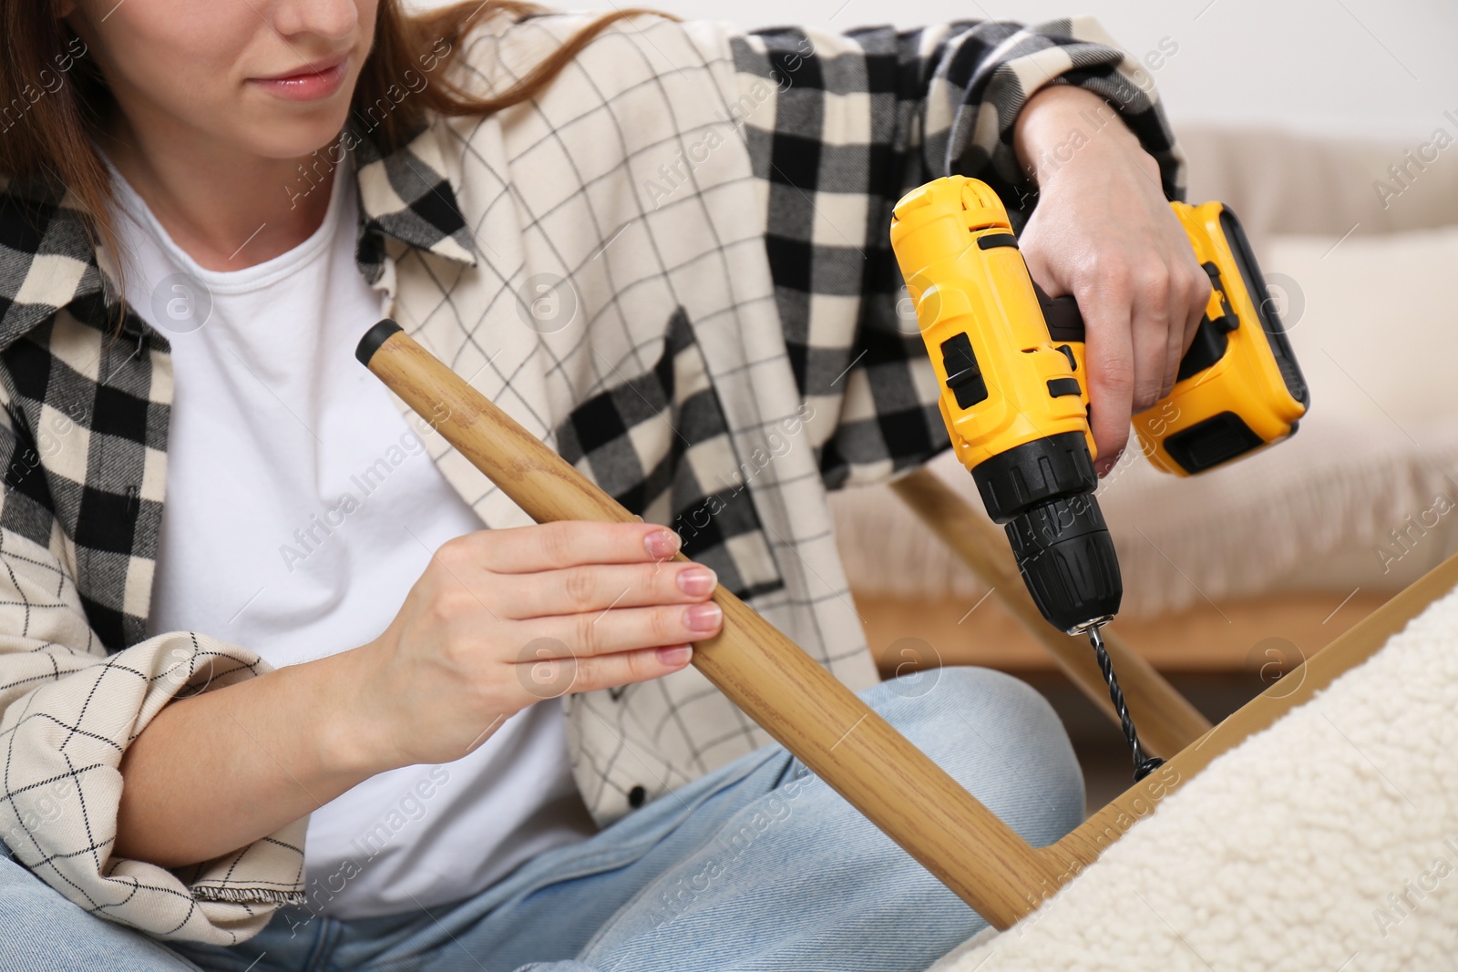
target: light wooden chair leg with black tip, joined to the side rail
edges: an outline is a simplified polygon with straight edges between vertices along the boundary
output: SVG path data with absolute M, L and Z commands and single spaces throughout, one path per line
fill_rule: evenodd
M 382 321 L 372 328 L 356 354 L 537 522 L 639 519 L 395 322 Z M 930 488 L 927 494 L 935 498 Z M 958 501 L 965 503 L 959 497 Z M 935 513 L 937 507 L 929 501 L 917 509 Z M 946 529 L 945 522 L 937 525 Z M 968 549 L 975 548 L 974 538 L 967 533 Z M 799 646 L 723 587 L 714 593 L 725 612 L 723 628 L 714 638 L 695 644 L 694 666 L 989 924 L 1007 928 L 1098 860 L 1127 829 L 1124 820 L 1146 816 L 1217 755 L 1365 662 L 1455 583 L 1458 557 L 1392 597 L 1219 726 L 1181 746 L 1159 771 L 1044 848 L 1024 841 Z M 1022 587 L 1012 583 L 1006 589 Z M 1124 666 L 1121 676 L 1126 670 L 1133 676 L 1137 656 L 1127 648 L 1120 651 L 1115 663 Z M 1057 650 L 1054 656 L 1063 657 Z M 1178 716 L 1178 702 L 1184 699 L 1178 694 L 1162 695 L 1165 689 L 1174 694 L 1168 685 L 1161 689 L 1146 678 L 1139 698 L 1163 698 L 1169 713 Z M 1177 732 L 1188 733 L 1194 723 L 1188 713 L 1182 720 L 1168 724 L 1185 724 Z M 1174 737 L 1165 740 L 1174 742 Z

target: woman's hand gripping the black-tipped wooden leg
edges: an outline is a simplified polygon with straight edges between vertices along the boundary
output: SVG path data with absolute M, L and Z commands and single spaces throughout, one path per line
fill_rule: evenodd
M 353 656 L 357 765 L 452 762 L 534 702 L 677 672 L 723 621 L 714 573 L 652 523 L 564 520 L 446 542 Z M 354 761 L 351 761 L 354 762 Z

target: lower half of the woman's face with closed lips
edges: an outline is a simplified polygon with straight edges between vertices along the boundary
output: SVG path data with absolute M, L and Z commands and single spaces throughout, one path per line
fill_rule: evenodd
M 58 4 L 133 131 L 295 159 L 344 125 L 379 0 Z

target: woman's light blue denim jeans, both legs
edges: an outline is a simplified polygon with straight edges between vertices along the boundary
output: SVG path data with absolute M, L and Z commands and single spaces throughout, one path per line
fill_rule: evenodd
M 940 669 L 860 695 L 1031 844 L 1082 819 L 1067 734 L 1018 679 Z M 910 972 L 983 927 L 779 745 L 474 898 L 354 921 L 283 908 L 233 947 L 95 918 L 0 857 L 0 968 L 16 972 Z

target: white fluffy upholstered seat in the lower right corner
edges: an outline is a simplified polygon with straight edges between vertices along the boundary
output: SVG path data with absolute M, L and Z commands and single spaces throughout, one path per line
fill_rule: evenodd
M 1452 969 L 1458 593 L 933 972 Z

